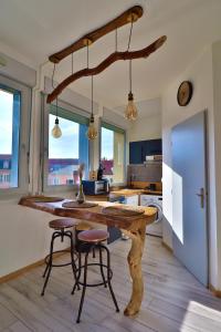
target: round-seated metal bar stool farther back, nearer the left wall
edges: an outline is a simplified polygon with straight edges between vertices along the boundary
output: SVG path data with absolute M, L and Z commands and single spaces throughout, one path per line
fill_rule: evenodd
M 67 228 L 73 228 L 77 225 L 77 222 L 74 219 L 71 218 L 63 218 L 63 219 L 54 219 L 52 221 L 49 222 L 49 227 L 54 229 L 55 231 L 52 234 L 52 239 L 51 239 L 51 246 L 50 246 L 50 253 L 45 257 L 44 261 L 46 263 L 46 267 L 44 269 L 44 273 L 43 273 L 43 278 L 46 276 L 45 281 L 44 281 L 44 286 L 41 292 L 41 295 L 44 295 L 44 291 L 46 288 L 46 284 L 49 282 L 49 277 L 51 274 L 51 270 L 52 267 L 66 267 L 66 266 L 72 266 L 72 270 L 73 270 L 73 274 L 74 278 L 76 280 L 76 264 L 75 264 L 75 260 L 77 259 L 76 252 L 74 250 L 74 245 L 73 245 L 73 235 L 71 230 L 65 230 Z M 61 241 L 64 241 L 64 237 L 70 238 L 71 241 L 71 261 L 66 262 L 66 263 L 53 263 L 53 255 L 57 253 L 57 252 L 67 252 L 69 250 L 56 250 L 53 251 L 53 246 L 54 246 L 54 240 L 56 238 L 61 238 Z M 76 258 L 74 259 L 74 256 L 76 256 Z M 80 287 L 77 286 L 77 288 L 80 289 Z

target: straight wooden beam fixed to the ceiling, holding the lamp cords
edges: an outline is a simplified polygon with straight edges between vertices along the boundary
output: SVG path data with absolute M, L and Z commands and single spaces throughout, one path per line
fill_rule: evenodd
M 143 15 L 143 8 L 140 6 L 134 6 L 122 13 L 116 19 L 112 20 L 107 24 L 85 34 L 80 38 L 76 42 L 71 44 L 70 46 L 63 49 L 62 51 L 54 53 L 49 56 L 49 60 L 53 63 L 59 63 L 62 59 L 66 58 L 71 53 L 78 51 L 82 48 L 85 48 L 88 43 L 92 44 L 103 35 L 129 23 L 137 21 Z

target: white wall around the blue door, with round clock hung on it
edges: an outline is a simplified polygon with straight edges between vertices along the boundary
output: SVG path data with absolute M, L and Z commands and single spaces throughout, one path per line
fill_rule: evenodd
M 164 194 L 164 241 L 172 247 L 172 167 L 171 167 L 171 128 L 191 115 L 208 111 L 208 149 L 209 149 L 209 242 L 210 242 L 210 283 L 218 281 L 218 242 L 215 208 L 215 159 L 214 159 L 214 117 L 213 117 L 213 76 L 212 50 L 208 48 L 198 59 L 168 86 L 162 95 L 162 194 Z M 180 82 L 193 83 L 193 95 L 189 105 L 180 107 L 177 103 L 177 90 Z

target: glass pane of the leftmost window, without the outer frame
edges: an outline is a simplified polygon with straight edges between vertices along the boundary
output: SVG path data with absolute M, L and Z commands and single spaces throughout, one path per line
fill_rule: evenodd
M 20 92 L 0 87 L 0 189 L 18 187 Z

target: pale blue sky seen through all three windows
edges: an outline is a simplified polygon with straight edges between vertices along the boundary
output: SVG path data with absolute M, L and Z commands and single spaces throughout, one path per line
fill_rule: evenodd
M 0 154 L 11 154 L 13 94 L 0 90 Z M 78 158 L 78 124 L 60 117 L 62 136 L 53 138 L 51 131 L 55 116 L 50 115 L 49 157 Z M 102 128 L 102 158 L 112 159 L 114 153 L 113 131 Z

